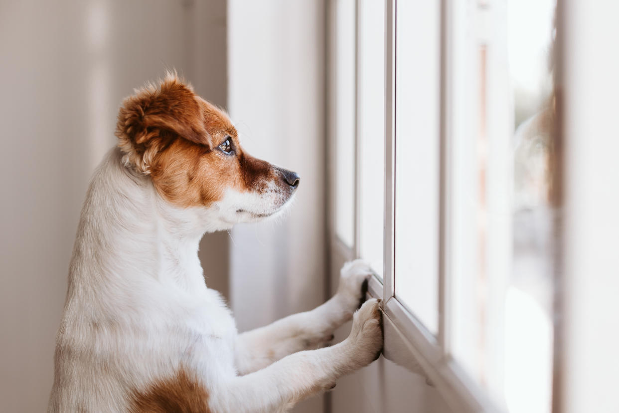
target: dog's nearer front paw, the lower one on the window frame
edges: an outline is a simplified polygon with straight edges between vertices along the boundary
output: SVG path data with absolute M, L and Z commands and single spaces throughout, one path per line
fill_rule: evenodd
M 351 362 L 363 367 L 378 359 L 383 349 L 381 300 L 372 298 L 353 315 L 352 329 L 346 339 Z

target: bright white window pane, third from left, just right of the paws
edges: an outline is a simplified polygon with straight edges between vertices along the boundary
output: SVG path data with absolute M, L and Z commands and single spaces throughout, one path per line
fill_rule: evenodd
M 398 2 L 394 290 L 438 330 L 439 2 Z

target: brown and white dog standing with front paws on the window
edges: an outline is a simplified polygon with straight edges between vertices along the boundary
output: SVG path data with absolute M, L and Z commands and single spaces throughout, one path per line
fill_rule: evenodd
M 223 110 L 168 73 L 123 101 L 116 136 L 80 216 L 49 412 L 285 412 L 378 357 L 363 261 L 326 303 L 242 334 L 205 284 L 202 235 L 280 214 L 300 181 L 246 153 Z

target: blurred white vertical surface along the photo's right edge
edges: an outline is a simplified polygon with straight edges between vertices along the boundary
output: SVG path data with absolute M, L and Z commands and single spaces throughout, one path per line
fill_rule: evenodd
M 619 4 L 559 6 L 565 65 L 560 411 L 617 412 Z

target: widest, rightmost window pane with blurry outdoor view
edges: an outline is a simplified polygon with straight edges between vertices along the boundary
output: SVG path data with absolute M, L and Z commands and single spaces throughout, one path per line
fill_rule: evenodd
M 555 1 L 453 7 L 451 350 L 509 412 L 550 412 Z

